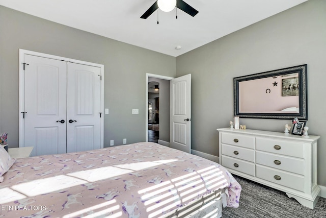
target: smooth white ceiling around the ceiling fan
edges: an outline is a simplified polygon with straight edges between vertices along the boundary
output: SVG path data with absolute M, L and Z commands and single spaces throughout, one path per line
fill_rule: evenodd
M 155 0 L 0 0 L 0 5 L 177 57 L 308 0 L 184 0 L 181 10 L 140 16 Z M 0 30 L 1 31 L 1 30 Z M 181 50 L 175 47 L 180 45 Z

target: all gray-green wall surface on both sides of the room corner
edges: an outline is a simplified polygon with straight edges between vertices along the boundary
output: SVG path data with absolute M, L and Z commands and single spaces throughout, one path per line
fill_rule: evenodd
M 104 146 L 145 140 L 146 73 L 192 74 L 192 149 L 219 156 L 216 128 L 233 119 L 233 77 L 308 64 L 309 134 L 320 135 L 318 184 L 326 185 L 326 1 L 310 0 L 177 58 L 0 6 L 0 130 L 18 147 L 18 49 L 105 65 Z M 132 108 L 140 114 L 131 114 Z M 290 120 L 240 119 L 282 132 Z

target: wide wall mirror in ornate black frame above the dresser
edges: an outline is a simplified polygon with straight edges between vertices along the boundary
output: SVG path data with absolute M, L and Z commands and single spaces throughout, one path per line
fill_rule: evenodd
M 233 78 L 234 116 L 308 120 L 307 64 Z

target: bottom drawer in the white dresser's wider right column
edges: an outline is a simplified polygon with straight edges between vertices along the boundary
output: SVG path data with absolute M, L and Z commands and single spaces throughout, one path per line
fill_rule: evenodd
M 299 191 L 304 191 L 304 177 L 300 175 L 256 165 L 256 177 Z

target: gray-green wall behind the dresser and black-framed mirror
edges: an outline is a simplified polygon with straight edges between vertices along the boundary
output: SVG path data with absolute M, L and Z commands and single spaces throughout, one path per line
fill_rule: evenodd
M 192 149 L 219 156 L 216 128 L 233 120 L 233 77 L 308 64 L 309 134 L 318 141 L 318 184 L 326 185 L 326 1 L 311 0 L 177 57 L 192 74 Z M 240 118 L 248 129 L 284 131 L 290 120 Z

